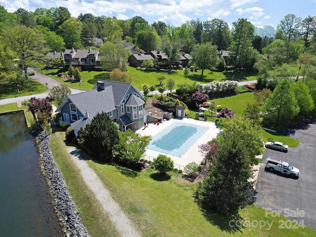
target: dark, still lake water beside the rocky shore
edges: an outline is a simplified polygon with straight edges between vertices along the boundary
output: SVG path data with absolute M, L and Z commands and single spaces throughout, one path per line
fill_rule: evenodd
M 23 113 L 0 115 L 0 236 L 63 237 Z

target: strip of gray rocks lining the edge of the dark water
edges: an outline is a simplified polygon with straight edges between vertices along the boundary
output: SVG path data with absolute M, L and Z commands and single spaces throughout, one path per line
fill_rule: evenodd
M 42 173 L 49 186 L 55 212 L 59 217 L 65 236 L 89 237 L 80 220 L 76 204 L 67 190 L 63 174 L 58 170 L 52 158 L 49 147 L 50 134 L 43 131 L 34 131 L 31 134 L 36 138 Z

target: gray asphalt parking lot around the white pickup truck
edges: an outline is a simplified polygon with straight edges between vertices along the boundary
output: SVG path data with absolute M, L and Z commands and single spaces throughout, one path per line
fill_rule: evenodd
M 260 165 L 255 205 L 316 229 L 316 121 L 284 133 L 299 140 L 288 152 L 266 149 Z M 282 160 L 300 170 L 298 179 L 265 169 L 266 158 Z

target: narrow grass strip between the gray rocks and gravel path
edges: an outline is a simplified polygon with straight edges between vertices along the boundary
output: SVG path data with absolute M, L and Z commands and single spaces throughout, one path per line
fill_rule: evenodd
M 65 132 L 54 130 L 50 137 L 50 147 L 58 169 L 64 175 L 68 191 L 76 202 L 84 226 L 91 237 L 118 237 L 119 234 L 109 216 L 84 184 L 79 169 L 67 153 L 64 139 Z

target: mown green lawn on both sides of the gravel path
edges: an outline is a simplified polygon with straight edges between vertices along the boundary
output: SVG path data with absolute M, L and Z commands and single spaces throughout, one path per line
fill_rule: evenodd
M 64 173 L 70 193 L 74 197 L 81 218 L 91 236 L 115 236 L 112 227 L 91 192 L 79 177 L 75 164 L 66 155 L 64 132 L 55 132 L 51 137 L 53 157 Z M 151 168 L 137 172 L 121 166 L 102 164 L 84 155 L 89 166 L 94 169 L 121 209 L 128 215 L 144 237 L 257 237 L 257 236 L 315 236 L 309 228 L 279 229 L 284 217 L 272 217 L 256 206 L 240 210 L 244 228 L 239 230 L 229 226 L 230 218 L 220 217 L 212 212 L 200 210 L 194 201 L 196 184 L 179 179 L 175 174 L 161 177 Z M 247 225 L 250 221 L 251 225 Z M 273 222 L 271 230 L 267 226 L 259 228 L 256 223 Z M 232 222 L 231 222 L 232 224 Z M 100 229 L 103 228 L 103 229 Z M 106 230 L 104 230 L 106 229 Z M 94 230 L 95 233 L 93 233 Z M 115 233 L 116 234 L 116 233 Z

